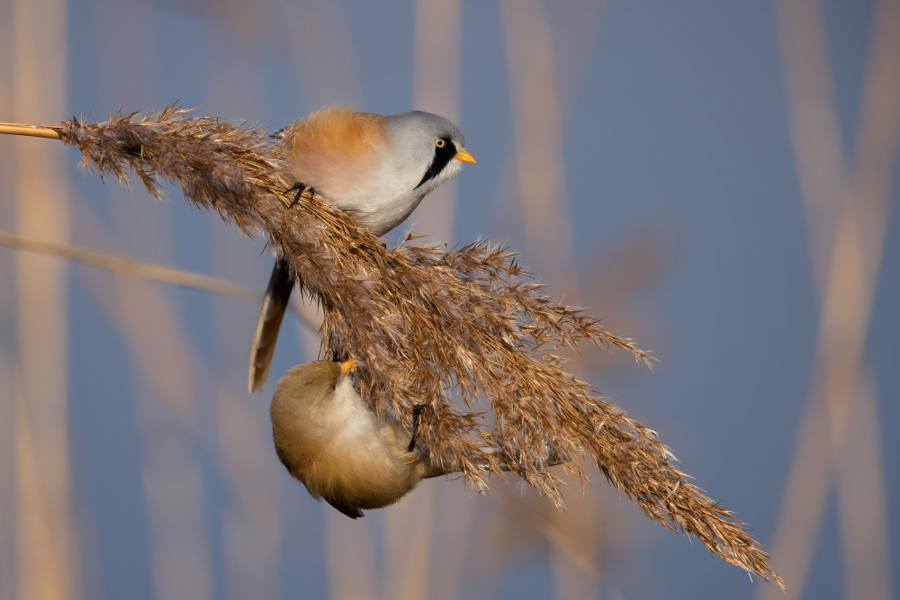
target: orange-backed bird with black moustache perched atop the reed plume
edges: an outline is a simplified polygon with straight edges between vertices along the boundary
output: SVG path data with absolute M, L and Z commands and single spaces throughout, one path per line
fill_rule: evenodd
M 327 107 L 280 133 L 278 157 L 296 182 L 293 204 L 305 191 L 319 193 L 378 236 L 400 225 L 463 163 L 475 162 L 460 130 L 430 112 L 384 117 Z M 293 284 L 290 263 L 276 257 L 250 352 L 251 393 L 266 386 Z

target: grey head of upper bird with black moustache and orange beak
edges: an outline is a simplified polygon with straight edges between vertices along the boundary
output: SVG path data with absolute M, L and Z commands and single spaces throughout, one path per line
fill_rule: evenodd
M 474 163 L 465 151 L 463 132 L 452 121 L 431 112 L 411 111 L 387 117 L 392 144 L 409 157 L 422 174 L 416 186 L 423 195 Z

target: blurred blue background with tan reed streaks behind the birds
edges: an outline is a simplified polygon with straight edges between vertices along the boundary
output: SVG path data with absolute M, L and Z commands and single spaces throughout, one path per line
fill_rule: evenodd
M 900 2 L 0 0 L 0 121 L 175 101 L 456 121 L 478 164 L 388 238 L 509 243 L 660 358 L 572 371 L 752 524 L 789 597 L 900 597 Z M 0 137 L 0 232 L 265 288 L 262 240 L 78 158 Z M 255 301 L 4 239 L 2 599 L 784 597 L 596 468 L 562 514 L 433 480 L 352 522 L 270 438 L 315 327 L 285 322 L 250 397 Z

